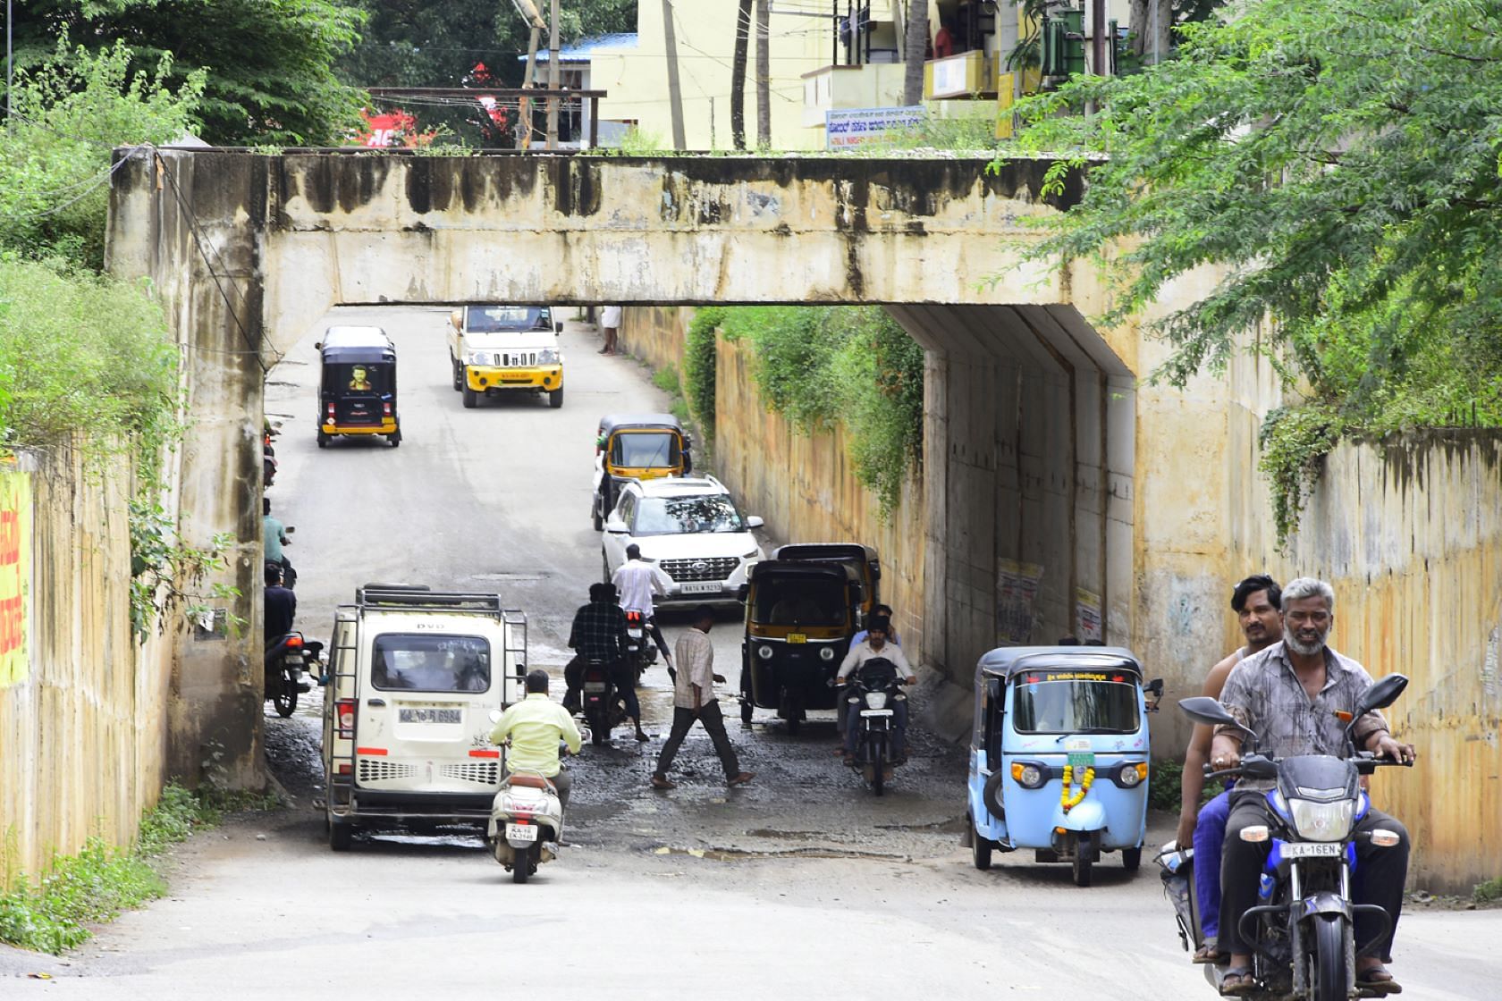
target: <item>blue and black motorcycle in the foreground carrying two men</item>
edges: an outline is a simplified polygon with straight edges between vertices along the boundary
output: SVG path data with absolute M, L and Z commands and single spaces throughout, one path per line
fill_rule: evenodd
M 1215 699 L 1197 696 L 1179 702 L 1194 722 L 1235 726 L 1251 738 L 1251 752 L 1242 755 L 1238 767 L 1214 771 L 1206 765 L 1206 779 L 1245 776 L 1277 780 L 1277 788 L 1268 792 L 1271 822 L 1247 827 L 1241 833 L 1242 840 L 1271 845 L 1257 887 L 1259 903 L 1241 915 L 1239 930 L 1253 950 L 1257 983 L 1242 996 L 1251 1001 L 1346 1001 L 1367 996 L 1358 995 L 1355 960 L 1376 942 L 1355 941 L 1355 915 L 1380 915 L 1386 927 L 1379 939 L 1391 929 L 1392 915 L 1374 903 L 1352 902 L 1356 843 L 1392 848 L 1400 843 L 1400 836 L 1380 827 L 1355 830 L 1370 806 L 1361 776 L 1370 776 L 1382 765 L 1412 762 L 1358 752 L 1352 732 L 1356 720 L 1395 702 L 1404 687 L 1406 677 L 1389 674 L 1361 696 L 1346 726 L 1343 758 L 1268 758 L 1256 750 L 1257 734 L 1241 726 Z M 1173 855 L 1166 857 L 1169 861 L 1163 864 L 1167 869 Z M 1218 990 L 1226 968 L 1205 965 L 1205 975 Z

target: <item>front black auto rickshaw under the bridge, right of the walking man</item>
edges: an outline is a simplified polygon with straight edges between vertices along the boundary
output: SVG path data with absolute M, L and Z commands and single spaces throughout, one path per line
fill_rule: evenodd
M 847 564 L 763 560 L 746 584 L 740 645 L 740 720 L 775 708 L 798 732 L 808 710 L 835 708 L 831 686 L 861 626 L 865 588 Z

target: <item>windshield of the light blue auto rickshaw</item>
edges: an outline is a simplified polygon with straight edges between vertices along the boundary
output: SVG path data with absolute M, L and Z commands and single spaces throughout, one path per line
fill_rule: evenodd
M 1137 675 L 1126 671 L 1021 671 L 1012 726 L 1020 734 L 1136 734 Z

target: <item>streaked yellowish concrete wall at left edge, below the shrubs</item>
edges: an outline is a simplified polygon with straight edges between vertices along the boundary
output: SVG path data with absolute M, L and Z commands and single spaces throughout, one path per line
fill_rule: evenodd
M 0 687 L 0 890 L 98 836 L 135 839 L 165 773 L 165 644 L 131 636 L 123 462 L 23 456 L 30 671 Z

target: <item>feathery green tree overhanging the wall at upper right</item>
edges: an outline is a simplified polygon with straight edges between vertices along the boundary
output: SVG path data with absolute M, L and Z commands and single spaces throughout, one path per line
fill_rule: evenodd
M 1172 344 L 1154 378 L 1272 359 L 1286 536 L 1343 435 L 1502 425 L 1502 3 L 1260 0 L 1179 36 L 1175 60 L 1018 105 L 1011 152 L 1065 152 L 1053 182 L 1087 168 L 1032 254 L 1099 261 L 1105 324 L 1221 269 L 1154 324 Z

